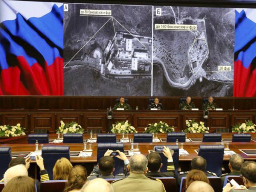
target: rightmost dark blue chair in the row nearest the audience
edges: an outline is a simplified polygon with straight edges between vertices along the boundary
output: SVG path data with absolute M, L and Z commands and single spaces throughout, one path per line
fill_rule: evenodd
M 224 146 L 223 145 L 200 145 L 198 156 L 204 158 L 207 162 L 206 170 L 221 175 L 223 162 Z

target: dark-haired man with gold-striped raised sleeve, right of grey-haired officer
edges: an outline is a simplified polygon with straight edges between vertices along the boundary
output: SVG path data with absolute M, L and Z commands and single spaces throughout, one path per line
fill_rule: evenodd
M 174 177 L 174 163 L 170 149 L 164 146 L 164 156 L 167 157 L 167 172 L 160 172 L 162 168 L 162 159 L 158 152 L 151 152 L 147 155 L 148 158 L 148 172 L 146 176 L 151 177 Z

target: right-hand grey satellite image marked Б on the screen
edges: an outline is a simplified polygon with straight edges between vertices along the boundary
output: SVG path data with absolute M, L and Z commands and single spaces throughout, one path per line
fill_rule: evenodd
M 233 8 L 154 6 L 155 24 L 197 29 L 154 28 L 154 96 L 232 96 Z

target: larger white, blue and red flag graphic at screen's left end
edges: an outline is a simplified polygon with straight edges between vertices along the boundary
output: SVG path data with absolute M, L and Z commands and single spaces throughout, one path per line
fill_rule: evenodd
M 63 3 L 0 0 L 0 95 L 63 95 Z

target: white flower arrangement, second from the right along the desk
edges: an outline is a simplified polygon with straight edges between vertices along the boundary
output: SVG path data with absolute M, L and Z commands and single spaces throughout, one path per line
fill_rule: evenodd
M 186 120 L 186 133 L 208 133 L 209 127 L 204 126 L 204 122 L 200 123 L 193 120 Z

